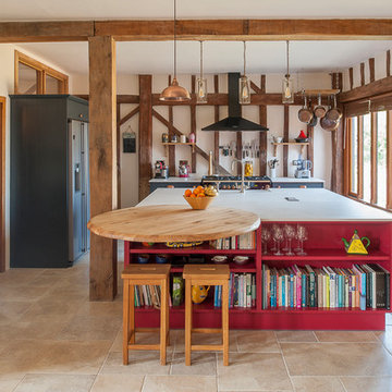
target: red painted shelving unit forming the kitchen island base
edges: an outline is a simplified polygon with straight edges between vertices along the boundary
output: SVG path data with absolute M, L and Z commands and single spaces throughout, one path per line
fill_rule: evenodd
M 265 222 L 264 226 L 271 228 L 273 223 Z M 168 248 L 163 244 L 144 247 L 140 243 L 125 242 L 124 262 L 135 262 L 136 254 L 205 254 L 206 259 L 211 256 L 226 254 L 249 255 L 253 259 L 248 265 L 237 266 L 230 262 L 231 272 L 256 273 L 256 307 L 231 308 L 230 328 L 234 329 L 283 329 L 283 330 L 383 330 L 385 328 L 385 313 L 388 309 L 358 308 L 262 308 L 262 265 L 270 268 L 287 268 L 292 265 L 310 265 L 313 267 L 352 268 L 353 264 L 379 262 L 387 270 L 392 270 L 392 223 L 391 222 L 286 222 L 287 224 L 303 224 L 308 231 L 308 241 L 305 242 L 306 256 L 274 256 L 262 255 L 261 226 L 256 231 L 256 249 L 213 249 L 208 244 L 195 248 Z M 342 237 L 350 238 L 357 229 L 360 235 L 371 241 L 369 255 L 346 255 Z M 294 245 L 294 244 L 293 244 Z M 295 244 L 296 245 L 296 244 Z M 293 246 L 294 247 L 294 246 Z M 183 267 L 173 266 L 171 273 L 181 274 Z M 390 286 L 392 286 L 390 284 Z M 211 292 L 211 291 L 210 291 Z M 213 291 L 212 291 L 213 295 Z M 391 292 L 389 293 L 391 295 Z M 159 324 L 159 310 L 152 307 L 137 308 L 136 323 L 138 327 L 157 327 Z M 195 328 L 219 327 L 221 310 L 213 306 L 209 296 L 205 303 L 194 306 Z M 171 328 L 184 328 L 184 305 L 170 308 Z

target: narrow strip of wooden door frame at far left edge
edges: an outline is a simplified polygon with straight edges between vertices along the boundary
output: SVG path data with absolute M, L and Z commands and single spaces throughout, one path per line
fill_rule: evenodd
M 0 97 L 0 272 L 5 271 L 5 97 Z

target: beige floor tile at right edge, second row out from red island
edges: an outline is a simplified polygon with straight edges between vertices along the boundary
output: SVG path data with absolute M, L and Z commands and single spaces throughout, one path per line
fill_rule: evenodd
M 281 343 L 291 376 L 390 376 L 380 343 Z

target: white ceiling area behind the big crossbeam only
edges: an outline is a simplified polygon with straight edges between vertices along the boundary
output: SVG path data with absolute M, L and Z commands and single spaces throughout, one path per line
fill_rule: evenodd
M 250 41 L 247 46 L 248 73 L 285 72 L 284 41 Z M 70 74 L 88 73 L 87 42 L 21 44 Z M 347 69 L 370 57 L 392 49 L 392 41 L 293 41 L 290 44 L 290 70 L 294 72 L 332 72 Z M 120 74 L 169 74 L 173 71 L 172 41 L 133 41 L 117 44 Z M 243 70 L 243 44 L 207 41 L 204 44 L 205 73 Z M 199 42 L 177 42 L 177 73 L 199 72 Z

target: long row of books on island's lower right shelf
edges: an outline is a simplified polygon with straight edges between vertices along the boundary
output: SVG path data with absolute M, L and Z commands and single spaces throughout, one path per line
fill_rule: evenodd
M 351 268 L 262 265 L 262 309 L 390 309 L 390 271 L 379 264 Z

